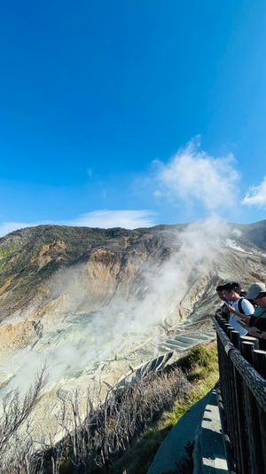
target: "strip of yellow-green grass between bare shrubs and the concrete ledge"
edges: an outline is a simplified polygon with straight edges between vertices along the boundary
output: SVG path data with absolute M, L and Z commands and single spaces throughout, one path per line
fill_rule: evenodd
M 145 474 L 153 462 L 162 440 L 167 436 L 174 424 L 204 395 L 210 391 L 219 378 L 216 344 L 198 346 L 186 357 L 178 361 L 192 390 L 185 399 L 177 399 L 170 411 L 165 411 L 160 420 L 141 435 L 140 439 L 111 467 L 113 473 Z

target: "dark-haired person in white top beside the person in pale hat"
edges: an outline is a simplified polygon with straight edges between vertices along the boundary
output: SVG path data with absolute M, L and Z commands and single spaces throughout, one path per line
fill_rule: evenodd
M 246 297 L 240 296 L 240 293 L 239 283 L 232 282 L 223 287 L 223 295 L 229 301 L 227 304 L 230 311 L 229 323 L 241 336 L 246 336 L 248 330 L 243 328 L 241 320 L 245 320 L 245 316 L 254 314 L 254 305 Z M 246 322 L 248 321 L 246 320 Z

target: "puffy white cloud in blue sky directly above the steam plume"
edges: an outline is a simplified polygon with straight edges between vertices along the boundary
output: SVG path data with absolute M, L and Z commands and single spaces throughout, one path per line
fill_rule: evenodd
M 238 194 L 239 172 L 233 164 L 232 154 L 214 158 L 200 151 L 199 139 L 192 140 L 167 164 L 157 162 L 160 191 L 171 199 L 198 201 L 207 210 L 229 209 Z

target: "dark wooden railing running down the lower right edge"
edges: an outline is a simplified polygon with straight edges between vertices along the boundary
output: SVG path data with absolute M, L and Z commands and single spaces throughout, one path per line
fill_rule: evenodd
M 239 336 L 222 317 L 216 315 L 214 325 L 231 472 L 266 474 L 266 352 L 257 338 Z

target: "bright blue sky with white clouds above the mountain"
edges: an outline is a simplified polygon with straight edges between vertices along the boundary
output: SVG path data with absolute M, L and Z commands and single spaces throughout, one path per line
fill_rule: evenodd
M 0 6 L 0 233 L 266 208 L 262 0 Z

